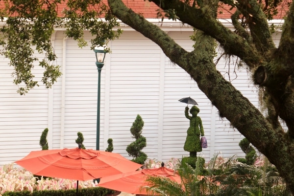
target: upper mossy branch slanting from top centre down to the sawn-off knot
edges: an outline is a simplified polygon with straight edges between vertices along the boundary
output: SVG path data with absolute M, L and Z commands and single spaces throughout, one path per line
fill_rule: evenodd
M 163 10 L 176 10 L 181 22 L 200 29 L 215 38 L 227 54 L 240 57 L 249 67 L 253 68 L 262 62 L 262 56 L 254 45 L 243 37 L 226 28 L 215 17 L 209 6 L 192 7 L 181 0 L 151 0 Z M 191 20 L 193 19 L 193 20 Z

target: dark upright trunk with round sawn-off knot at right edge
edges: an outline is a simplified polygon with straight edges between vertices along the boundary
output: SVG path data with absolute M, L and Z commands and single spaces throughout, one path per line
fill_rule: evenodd
M 268 101 L 275 109 L 274 113 L 286 122 L 292 138 L 294 138 L 293 16 L 294 4 L 290 6 L 288 17 L 283 25 L 278 48 L 271 50 L 269 61 L 259 66 L 254 73 L 255 83 L 265 87 L 270 97 Z

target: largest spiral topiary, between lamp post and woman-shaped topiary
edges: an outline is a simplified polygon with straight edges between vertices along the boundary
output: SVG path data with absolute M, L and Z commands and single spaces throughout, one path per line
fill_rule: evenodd
M 130 129 L 133 135 L 132 138 L 135 138 L 136 141 L 126 147 L 126 152 L 128 152 L 129 156 L 133 157 L 132 161 L 139 164 L 144 164 L 147 159 L 147 154 L 142 152 L 142 149 L 147 145 L 146 137 L 141 135 L 143 127 L 144 121 L 138 114 Z

